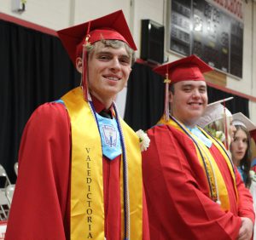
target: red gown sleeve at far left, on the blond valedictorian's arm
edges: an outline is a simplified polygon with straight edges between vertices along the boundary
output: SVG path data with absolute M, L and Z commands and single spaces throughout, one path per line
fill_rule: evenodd
M 65 106 L 47 103 L 33 112 L 20 143 L 5 239 L 69 239 L 70 139 Z

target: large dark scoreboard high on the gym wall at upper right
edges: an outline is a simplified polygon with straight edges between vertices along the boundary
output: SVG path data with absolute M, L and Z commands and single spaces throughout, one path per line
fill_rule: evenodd
M 242 77 L 241 0 L 172 0 L 168 9 L 167 49 Z

